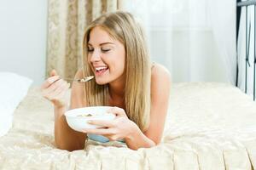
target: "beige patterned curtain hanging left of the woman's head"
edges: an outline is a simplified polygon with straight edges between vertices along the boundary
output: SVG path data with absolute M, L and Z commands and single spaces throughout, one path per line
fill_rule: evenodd
M 103 13 L 121 8 L 122 0 L 49 0 L 46 77 L 55 69 L 73 78 L 82 67 L 85 27 Z

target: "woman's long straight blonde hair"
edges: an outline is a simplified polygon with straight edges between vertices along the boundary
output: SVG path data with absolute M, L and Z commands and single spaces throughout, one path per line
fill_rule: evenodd
M 102 14 L 84 33 L 84 76 L 93 75 L 87 62 L 90 31 L 100 26 L 125 46 L 125 112 L 142 131 L 148 128 L 150 113 L 150 60 L 143 29 L 130 13 L 117 11 Z M 108 84 L 95 80 L 84 83 L 84 100 L 89 106 L 108 105 Z

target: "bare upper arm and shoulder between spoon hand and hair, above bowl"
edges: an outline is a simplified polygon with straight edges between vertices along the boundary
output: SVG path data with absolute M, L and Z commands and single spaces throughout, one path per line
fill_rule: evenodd
M 83 77 L 83 70 L 76 72 L 74 79 Z M 73 82 L 71 88 L 70 109 L 79 108 L 84 106 L 84 84 Z

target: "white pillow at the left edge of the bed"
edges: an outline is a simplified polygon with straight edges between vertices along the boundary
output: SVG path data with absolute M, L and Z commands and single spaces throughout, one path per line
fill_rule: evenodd
M 12 72 L 0 71 L 0 137 L 12 127 L 13 113 L 24 99 L 32 80 Z

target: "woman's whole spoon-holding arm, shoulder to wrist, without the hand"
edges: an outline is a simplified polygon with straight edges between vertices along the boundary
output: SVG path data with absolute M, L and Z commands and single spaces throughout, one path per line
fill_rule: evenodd
M 75 78 L 82 77 L 81 74 L 82 71 L 78 71 Z M 84 107 L 83 94 L 83 85 L 73 82 L 70 109 Z M 74 131 L 68 126 L 64 116 L 65 111 L 67 111 L 67 106 L 55 106 L 55 144 L 61 150 L 82 150 L 84 149 L 86 134 Z

